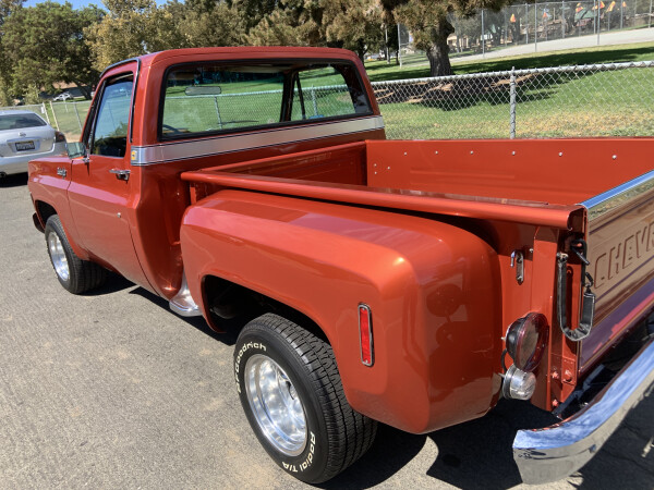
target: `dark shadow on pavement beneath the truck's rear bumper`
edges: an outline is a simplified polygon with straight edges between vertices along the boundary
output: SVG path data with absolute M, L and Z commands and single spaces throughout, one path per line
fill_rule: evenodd
M 654 481 L 653 409 L 654 396 L 650 396 L 629 414 L 600 453 L 578 474 L 552 485 L 556 488 L 615 489 L 625 488 L 625 482 L 629 481 L 630 489 L 651 489 Z M 556 421 L 557 418 L 529 403 L 500 400 L 485 417 L 428 434 L 415 436 L 379 426 L 371 451 L 342 475 L 320 487 L 335 490 L 374 487 L 391 478 L 414 458 L 416 486 L 424 485 L 423 469 L 417 467 L 423 457 L 419 453 L 429 454 L 425 445 L 431 444 L 437 454 L 426 469 L 427 476 L 461 489 L 508 489 L 522 482 L 511 450 L 516 432 Z

